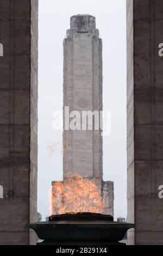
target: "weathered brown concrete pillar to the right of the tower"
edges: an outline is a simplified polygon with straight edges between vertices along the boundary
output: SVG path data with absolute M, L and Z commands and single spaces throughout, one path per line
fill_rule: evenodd
M 161 0 L 127 0 L 128 243 L 163 244 Z M 134 14 L 134 15 L 133 15 Z

